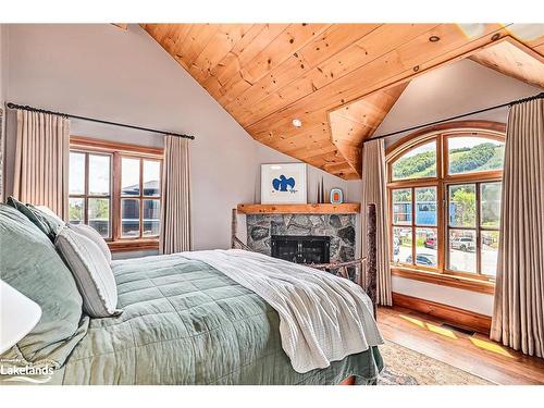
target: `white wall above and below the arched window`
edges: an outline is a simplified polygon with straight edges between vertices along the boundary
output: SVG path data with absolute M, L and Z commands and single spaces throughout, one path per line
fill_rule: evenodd
M 537 94 L 540 89 L 499 74 L 470 60 L 459 61 L 412 81 L 392 108 L 375 135 L 487 108 Z M 465 119 L 506 123 L 500 109 Z M 386 139 L 391 146 L 407 133 Z M 396 293 L 452 305 L 482 314 L 493 313 L 493 296 L 393 277 Z

